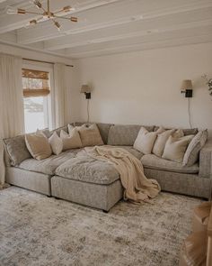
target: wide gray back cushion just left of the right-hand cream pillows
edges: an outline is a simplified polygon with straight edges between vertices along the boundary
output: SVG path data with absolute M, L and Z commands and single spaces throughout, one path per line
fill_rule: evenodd
M 143 125 L 138 124 L 115 124 L 110 126 L 108 145 L 133 146 L 137 134 Z M 145 126 L 147 131 L 152 132 L 154 126 Z

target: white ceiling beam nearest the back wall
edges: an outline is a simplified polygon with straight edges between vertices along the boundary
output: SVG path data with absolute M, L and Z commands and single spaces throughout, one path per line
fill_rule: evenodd
M 96 57 L 110 54 L 117 54 L 123 52 L 130 52 L 136 50 L 152 50 L 152 49 L 161 49 L 166 47 L 174 47 L 174 46 L 182 46 L 182 45 L 190 45 L 190 44 L 198 44 L 198 43 L 208 43 L 212 42 L 211 35 L 199 35 L 194 37 L 185 37 L 178 38 L 176 40 L 163 40 L 163 41 L 153 41 L 149 43 L 137 43 L 137 44 L 128 44 L 123 46 L 116 46 L 105 49 L 93 49 L 84 52 L 72 52 L 67 56 L 70 59 L 84 59 L 88 57 Z

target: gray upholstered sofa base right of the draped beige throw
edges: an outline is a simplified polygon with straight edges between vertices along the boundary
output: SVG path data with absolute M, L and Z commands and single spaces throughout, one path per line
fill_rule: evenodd
M 145 168 L 148 179 L 156 179 L 163 191 L 194 197 L 211 198 L 212 179 L 199 178 L 195 174 L 183 174 Z

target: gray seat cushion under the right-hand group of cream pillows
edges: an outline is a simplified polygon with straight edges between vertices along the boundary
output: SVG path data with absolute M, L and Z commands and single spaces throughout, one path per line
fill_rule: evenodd
M 181 163 L 175 161 L 168 161 L 155 156 L 154 154 L 147 154 L 141 158 L 145 168 L 155 170 L 167 170 L 171 172 L 194 174 L 199 173 L 199 164 L 193 164 L 192 166 L 182 166 Z

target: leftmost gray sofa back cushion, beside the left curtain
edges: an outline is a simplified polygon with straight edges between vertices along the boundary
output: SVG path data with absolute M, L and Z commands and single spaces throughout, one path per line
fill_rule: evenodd
M 4 147 L 13 166 L 31 158 L 31 153 L 25 143 L 25 135 L 4 139 Z

